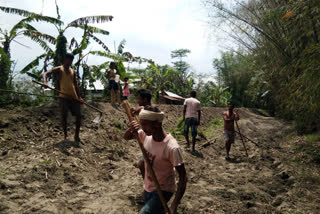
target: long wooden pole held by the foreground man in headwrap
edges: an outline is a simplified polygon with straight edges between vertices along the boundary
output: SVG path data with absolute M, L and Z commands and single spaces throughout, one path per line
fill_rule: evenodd
M 133 119 L 133 117 L 132 117 L 132 115 L 131 115 L 129 102 L 128 102 L 127 100 L 125 100 L 125 101 L 123 101 L 123 104 L 122 104 L 122 105 L 123 105 L 123 107 L 124 107 L 125 110 L 126 110 L 126 113 L 127 113 L 127 115 L 128 115 L 129 121 L 130 121 L 130 122 L 133 121 L 134 119 Z M 138 140 L 138 143 L 139 143 L 141 152 L 142 152 L 142 154 L 143 154 L 144 160 L 146 161 L 147 166 L 148 166 L 148 169 L 150 170 L 150 174 L 151 174 L 152 180 L 154 181 L 154 183 L 155 183 L 155 185 L 156 185 L 157 192 L 158 192 L 159 198 L 160 198 L 160 200 L 161 200 L 162 206 L 164 207 L 165 211 L 170 214 L 169 207 L 168 207 L 167 202 L 166 202 L 166 200 L 165 200 L 165 198 L 164 198 L 164 196 L 163 196 L 163 194 L 162 194 L 159 181 L 158 181 L 158 179 L 157 179 L 157 177 L 156 177 L 155 172 L 153 171 L 153 168 L 152 168 L 152 165 L 151 165 L 151 163 L 150 163 L 150 160 L 149 160 L 147 151 L 145 150 L 145 148 L 144 148 L 144 146 L 143 146 L 143 143 L 142 143 L 142 141 L 141 141 L 141 139 L 140 139 L 139 136 L 138 136 L 137 140 Z

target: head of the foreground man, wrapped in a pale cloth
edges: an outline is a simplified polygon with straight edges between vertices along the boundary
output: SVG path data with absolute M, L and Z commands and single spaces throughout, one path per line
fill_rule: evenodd
M 162 121 L 164 113 L 157 107 L 147 106 L 139 114 L 140 124 L 142 130 L 146 135 L 151 136 L 162 131 Z

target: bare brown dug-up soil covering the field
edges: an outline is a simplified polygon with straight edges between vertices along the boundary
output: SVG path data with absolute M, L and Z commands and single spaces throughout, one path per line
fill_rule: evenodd
M 143 188 L 135 163 L 141 152 L 135 141 L 122 139 L 128 123 L 124 112 L 109 104 L 99 107 L 106 112 L 99 125 L 91 122 L 97 114 L 83 109 L 81 144 L 62 140 L 55 103 L 0 110 L 0 213 L 139 210 Z M 174 129 L 182 106 L 159 107 L 167 115 L 166 129 Z M 288 143 L 292 125 L 240 109 L 239 126 L 258 146 L 246 142 L 246 157 L 237 137 L 227 162 L 218 120 L 222 111 L 204 108 L 205 136 L 199 137 L 196 154 L 179 137 L 188 174 L 179 213 L 320 213 L 318 180 L 301 180 L 289 161 L 294 155 Z

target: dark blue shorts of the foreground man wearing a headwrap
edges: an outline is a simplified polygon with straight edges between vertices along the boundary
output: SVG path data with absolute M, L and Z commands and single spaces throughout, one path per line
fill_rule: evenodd
M 166 202 L 170 200 L 173 193 L 162 191 L 163 197 Z M 140 210 L 140 214 L 165 214 L 160 197 L 157 191 L 147 192 L 144 191 L 144 197 L 146 199 L 145 205 Z

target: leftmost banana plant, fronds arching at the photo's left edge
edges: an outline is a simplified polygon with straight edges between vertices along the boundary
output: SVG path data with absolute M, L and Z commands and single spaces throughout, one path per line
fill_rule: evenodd
M 16 14 L 23 16 L 22 20 L 20 20 L 17 24 L 15 24 L 10 30 L 2 30 L 0 29 L 0 42 L 2 44 L 2 55 L 6 55 L 9 58 L 9 64 L 6 62 L 0 62 L 1 65 L 1 73 L 0 73 L 0 87 L 5 88 L 6 82 L 9 78 L 10 68 L 11 68 L 11 51 L 10 45 L 12 42 L 15 42 L 19 45 L 24 47 L 28 47 L 20 42 L 17 39 L 20 36 L 24 36 L 30 38 L 32 41 L 39 44 L 45 51 L 50 51 L 50 47 L 48 46 L 47 42 L 54 44 L 55 38 L 39 32 L 35 27 L 33 27 L 30 23 L 31 22 L 47 22 L 53 24 L 61 24 L 61 21 L 55 19 L 53 17 L 43 16 L 37 13 L 29 12 L 26 10 L 21 10 L 17 8 L 10 8 L 10 7 L 0 7 L 0 11 L 8 13 L 8 14 Z M 6 57 L 2 57 L 1 59 L 5 60 Z M 5 65 L 5 66 L 4 66 Z

